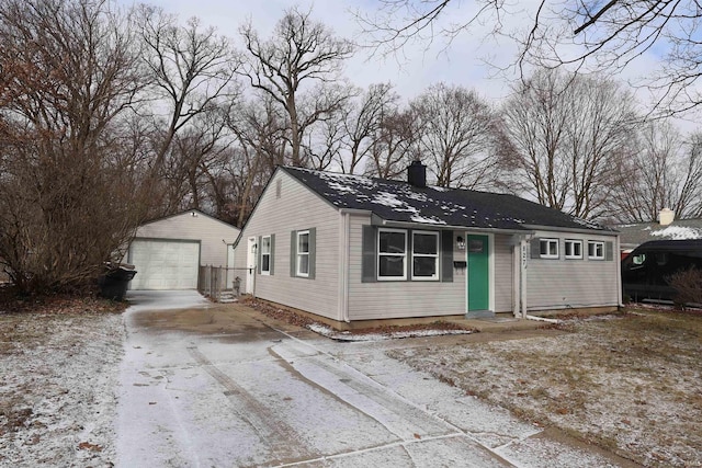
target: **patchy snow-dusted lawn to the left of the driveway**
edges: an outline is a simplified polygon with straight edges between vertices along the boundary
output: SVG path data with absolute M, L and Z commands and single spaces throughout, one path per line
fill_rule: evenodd
M 0 312 L 0 466 L 112 466 L 114 312 Z

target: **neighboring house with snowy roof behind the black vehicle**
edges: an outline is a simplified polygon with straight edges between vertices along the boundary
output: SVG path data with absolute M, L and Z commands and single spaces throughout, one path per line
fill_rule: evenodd
M 649 240 L 702 239 L 702 219 L 675 219 L 668 208 L 660 210 L 658 222 L 636 222 L 613 226 L 620 232 L 622 258 Z

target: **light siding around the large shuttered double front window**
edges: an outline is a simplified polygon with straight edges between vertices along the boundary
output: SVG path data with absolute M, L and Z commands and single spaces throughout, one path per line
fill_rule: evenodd
M 371 218 L 367 216 L 351 216 L 350 219 L 348 277 L 350 320 L 465 313 L 465 271 L 454 270 L 452 283 L 439 281 L 362 283 L 362 231 L 363 225 L 370 224 Z M 454 259 L 461 258 L 462 253 L 460 252 Z

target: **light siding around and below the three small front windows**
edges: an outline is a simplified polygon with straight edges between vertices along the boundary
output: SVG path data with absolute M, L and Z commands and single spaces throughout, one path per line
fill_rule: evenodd
M 612 236 L 589 236 L 537 231 L 535 239 L 558 239 L 556 260 L 528 259 L 526 306 L 528 310 L 568 309 L 578 307 L 616 306 L 618 262 L 615 253 L 611 260 L 588 260 L 588 240 L 613 242 Z M 566 239 L 582 240 L 582 259 L 565 259 Z

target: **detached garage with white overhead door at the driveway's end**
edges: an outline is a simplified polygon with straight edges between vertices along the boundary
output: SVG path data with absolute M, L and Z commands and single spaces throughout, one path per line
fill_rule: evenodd
M 240 230 L 190 209 L 139 226 L 126 262 L 131 289 L 195 289 L 200 265 L 230 266 L 228 251 Z

